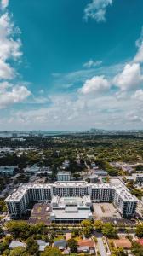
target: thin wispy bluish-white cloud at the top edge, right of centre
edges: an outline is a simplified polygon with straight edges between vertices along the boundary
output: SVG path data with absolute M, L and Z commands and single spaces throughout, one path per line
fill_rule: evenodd
M 97 22 L 106 20 L 106 8 L 112 5 L 113 0 L 92 0 L 84 9 L 84 19 L 94 19 Z

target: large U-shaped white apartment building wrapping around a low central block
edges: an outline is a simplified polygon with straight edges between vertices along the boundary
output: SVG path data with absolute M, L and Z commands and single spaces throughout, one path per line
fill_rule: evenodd
M 26 212 L 31 202 L 51 202 L 54 196 L 83 197 L 89 195 L 92 202 L 112 202 L 123 218 L 133 218 L 137 199 L 129 189 L 121 184 L 86 183 L 86 182 L 55 182 L 21 183 L 12 195 L 5 200 L 11 217 L 20 216 Z

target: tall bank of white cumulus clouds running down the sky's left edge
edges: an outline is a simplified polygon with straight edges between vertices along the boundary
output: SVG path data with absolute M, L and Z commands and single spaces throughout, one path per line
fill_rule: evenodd
M 31 91 L 23 82 L 19 84 L 15 81 L 14 84 L 8 82 L 16 79 L 17 72 L 13 63 L 22 55 L 21 41 L 18 37 L 20 29 L 14 26 L 11 16 L 7 11 L 5 12 L 8 5 L 8 0 L 0 2 L 0 8 L 3 10 L 3 15 L 0 16 L 0 108 L 23 102 L 31 95 Z

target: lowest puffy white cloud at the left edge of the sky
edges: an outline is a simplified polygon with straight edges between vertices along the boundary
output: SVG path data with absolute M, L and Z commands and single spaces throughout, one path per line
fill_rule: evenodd
M 27 96 L 30 96 L 30 90 L 26 86 L 9 84 L 3 82 L 0 84 L 0 108 L 7 108 L 14 103 L 23 102 Z

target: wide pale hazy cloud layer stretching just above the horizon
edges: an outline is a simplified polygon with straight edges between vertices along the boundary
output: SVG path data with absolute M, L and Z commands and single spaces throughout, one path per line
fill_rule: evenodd
M 70 94 L 51 96 L 51 104 L 44 108 L 22 109 L 11 113 L 10 127 L 20 129 L 75 130 L 91 127 L 106 129 L 140 128 L 140 102 L 127 96 L 118 100 L 114 95 L 89 98 Z M 135 104 L 134 104 L 135 103 Z M 132 111 L 132 114 L 130 113 Z M 133 117 L 132 117 L 133 116 Z M 65 120 L 67 120 L 65 122 Z M 88 122 L 87 122 L 88 120 Z

